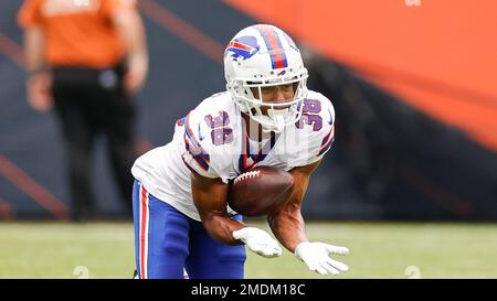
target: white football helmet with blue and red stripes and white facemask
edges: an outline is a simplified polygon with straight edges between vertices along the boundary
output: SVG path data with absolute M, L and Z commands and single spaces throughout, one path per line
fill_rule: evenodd
M 307 69 L 295 42 L 281 29 L 257 24 L 243 29 L 224 51 L 226 89 L 239 109 L 262 125 L 264 131 L 282 132 L 300 119 L 307 96 Z M 262 100 L 262 87 L 294 84 L 294 99 Z M 258 89 L 258 98 L 251 88 Z M 267 106 L 267 115 L 261 107 Z

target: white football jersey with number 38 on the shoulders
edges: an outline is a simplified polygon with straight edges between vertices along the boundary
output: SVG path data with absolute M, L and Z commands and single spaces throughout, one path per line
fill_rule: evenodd
M 138 158 L 131 173 L 154 196 L 200 221 L 188 166 L 229 183 L 254 166 L 289 171 L 322 158 L 335 139 L 334 106 L 313 90 L 303 106 L 297 122 L 258 142 L 248 139 L 242 112 L 231 95 L 215 94 L 176 122 L 171 142 Z

